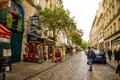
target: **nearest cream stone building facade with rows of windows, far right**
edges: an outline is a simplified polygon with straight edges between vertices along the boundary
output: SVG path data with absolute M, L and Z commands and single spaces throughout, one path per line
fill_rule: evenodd
M 120 0 L 103 0 L 105 48 L 120 47 Z

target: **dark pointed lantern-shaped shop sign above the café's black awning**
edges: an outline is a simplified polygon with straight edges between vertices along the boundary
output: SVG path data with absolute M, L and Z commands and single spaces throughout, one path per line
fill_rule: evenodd
M 35 14 L 29 19 L 29 33 L 27 35 L 27 42 L 44 42 L 44 38 L 41 38 L 42 31 L 40 29 L 40 20 L 39 17 Z

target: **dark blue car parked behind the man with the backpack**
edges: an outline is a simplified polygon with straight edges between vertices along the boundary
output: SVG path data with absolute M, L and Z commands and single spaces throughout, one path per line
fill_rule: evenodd
M 94 49 L 93 51 L 96 54 L 96 58 L 93 59 L 93 62 L 102 62 L 106 64 L 106 54 L 104 53 L 104 51 L 98 49 Z

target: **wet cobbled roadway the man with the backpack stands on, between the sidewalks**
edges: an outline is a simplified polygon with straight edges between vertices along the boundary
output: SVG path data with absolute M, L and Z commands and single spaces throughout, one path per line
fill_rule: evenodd
M 120 80 L 115 69 L 108 64 L 95 63 L 90 72 L 86 62 L 86 55 L 81 52 L 27 80 Z

